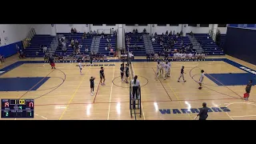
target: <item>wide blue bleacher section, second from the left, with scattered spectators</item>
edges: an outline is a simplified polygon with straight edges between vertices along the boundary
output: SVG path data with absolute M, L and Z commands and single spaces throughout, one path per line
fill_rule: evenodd
M 91 37 L 87 37 L 85 39 L 82 39 L 82 34 L 83 33 L 77 33 L 77 34 L 71 34 L 71 33 L 58 33 L 58 34 L 63 34 L 65 37 L 66 37 L 66 55 L 70 55 L 73 53 L 74 51 L 74 48 L 72 48 L 70 46 L 70 42 L 72 39 L 77 39 L 79 44 L 82 45 L 82 48 L 80 49 L 80 52 L 81 53 L 85 53 L 85 50 L 86 50 L 86 46 L 88 46 L 88 50 L 89 52 L 87 54 L 90 53 L 90 46 L 91 46 L 91 42 L 93 40 L 93 36 Z M 55 54 L 56 55 L 59 55 L 62 53 L 62 49 L 57 49 L 55 51 Z

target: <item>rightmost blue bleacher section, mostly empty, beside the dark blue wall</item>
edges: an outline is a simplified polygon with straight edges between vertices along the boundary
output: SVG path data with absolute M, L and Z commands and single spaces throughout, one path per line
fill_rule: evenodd
M 194 38 L 197 39 L 207 55 L 224 55 L 209 34 L 194 34 Z

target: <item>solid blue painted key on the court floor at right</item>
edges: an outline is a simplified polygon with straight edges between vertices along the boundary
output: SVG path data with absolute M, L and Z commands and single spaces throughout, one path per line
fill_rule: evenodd
M 218 86 L 242 86 L 247 85 L 249 80 L 253 80 L 255 85 L 256 76 L 249 73 L 241 74 L 205 74 L 207 78 L 215 82 Z

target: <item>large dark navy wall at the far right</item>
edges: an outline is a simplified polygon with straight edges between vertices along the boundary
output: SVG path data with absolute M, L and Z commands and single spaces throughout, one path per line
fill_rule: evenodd
M 256 65 L 256 30 L 228 27 L 224 53 Z

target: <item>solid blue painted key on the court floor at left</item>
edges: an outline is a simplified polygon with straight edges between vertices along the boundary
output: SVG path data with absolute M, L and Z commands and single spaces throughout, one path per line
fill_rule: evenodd
M 38 90 L 49 78 L 0 78 L 0 91 Z

